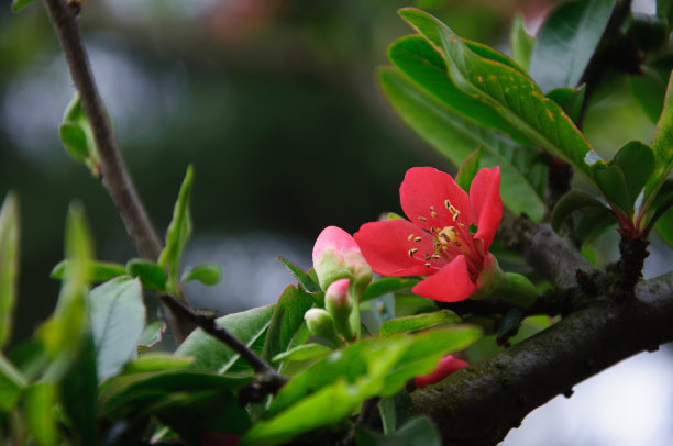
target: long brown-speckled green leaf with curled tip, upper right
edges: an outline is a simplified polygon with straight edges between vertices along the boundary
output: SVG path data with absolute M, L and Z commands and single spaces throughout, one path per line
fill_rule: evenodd
M 528 77 L 478 56 L 453 31 L 422 11 L 406 8 L 400 14 L 429 41 L 441 36 L 442 47 L 438 49 L 445 55 L 449 73 L 459 88 L 492 107 L 534 144 L 571 163 L 593 180 L 592 169 L 584 160 L 591 145 L 561 107 L 542 96 Z

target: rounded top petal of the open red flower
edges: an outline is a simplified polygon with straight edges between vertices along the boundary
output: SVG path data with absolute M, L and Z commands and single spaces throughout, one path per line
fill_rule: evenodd
M 432 167 L 413 167 L 407 170 L 399 188 L 402 210 L 424 230 L 443 228 L 462 223 L 472 224 L 472 205 L 467 193 L 455 183 L 449 174 Z M 457 210 L 456 220 L 449 207 Z

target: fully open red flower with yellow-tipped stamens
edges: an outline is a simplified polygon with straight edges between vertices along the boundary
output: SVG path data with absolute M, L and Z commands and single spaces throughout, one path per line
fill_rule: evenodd
M 450 175 L 415 167 L 399 197 L 411 222 L 366 223 L 354 236 L 374 272 L 428 276 L 411 291 L 443 302 L 467 299 L 484 287 L 493 276 L 484 272 L 497 268 L 488 247 L 503 218 L 500 168 L 479 170 L 468 197 Z

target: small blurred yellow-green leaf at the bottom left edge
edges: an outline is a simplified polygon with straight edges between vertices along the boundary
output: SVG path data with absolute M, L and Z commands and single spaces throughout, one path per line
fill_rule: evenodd
M 35 382 L 23 392 L 25 424 L 38 446 L 58 444 L 56 403 L 56 389 L 51 382 Z

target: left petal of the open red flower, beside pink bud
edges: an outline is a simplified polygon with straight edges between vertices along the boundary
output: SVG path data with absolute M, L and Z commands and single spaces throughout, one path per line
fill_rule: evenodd
M 372 270 L 383 276 L 428 276 L 446 263 L 431 257 L 432 236 L 407 220 L 365 223 L 354 237 Z

